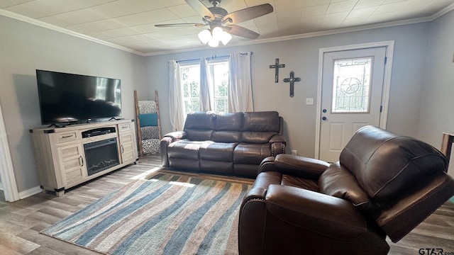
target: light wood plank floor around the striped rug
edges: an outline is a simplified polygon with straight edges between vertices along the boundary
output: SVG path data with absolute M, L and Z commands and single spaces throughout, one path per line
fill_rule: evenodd
M 0 201 L 0 254 L 98 254 L 39 232 L 121 188 L 131 179 L 159 169 L 159 156 L 140 157 L 138 164 L 71 188 L 62 197 L 39 193 L 14 203 Z M 393 255 L 416 255 L 422 248 L 443 249 L 454 254 L 453 203 L 445 203 L 399 243 L 389 244 L 389 254 Z

